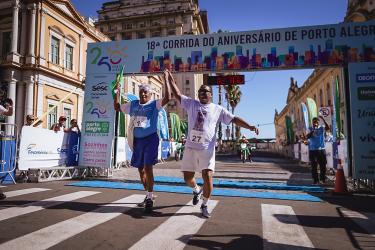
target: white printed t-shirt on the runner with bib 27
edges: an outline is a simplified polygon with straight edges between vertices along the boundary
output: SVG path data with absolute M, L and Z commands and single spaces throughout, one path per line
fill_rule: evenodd
M 220 122 L 229 125 L 234 118 L 228 110 L 210 103 L 201 104 L 187 96 L 181 96 L 181 106 L 188 113 L 186 146 L 195 149 L 214 149 L 216 129 Z

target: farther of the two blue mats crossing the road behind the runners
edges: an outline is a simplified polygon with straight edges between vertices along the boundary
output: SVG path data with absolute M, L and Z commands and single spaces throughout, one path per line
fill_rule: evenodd
M 160 183 L 185 183 L 183 178 L 171 177 L 171 176 L 155 176 L 155 182 Z M 199 185 L 203 184 L 203 180 L 196 178 Z M 254 181 L 227 181 L 214 179 L 213 184 L 216 187 L 227 187 L 227 188 L 240 188 L 240 189 L 270 189 L 270 190 L 290 190 L 290 191 L 303 191 L 303 192 L 324 192 L 324 188 L 320 186 L 298 186 L 288 185 L 286 183 L 277 182 L 254 182 Z

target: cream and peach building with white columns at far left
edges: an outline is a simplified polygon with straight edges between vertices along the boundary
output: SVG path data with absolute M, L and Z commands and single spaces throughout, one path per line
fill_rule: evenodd
M 60 115 L 80 124 L 86 48 L 100 41 L 109 39 L 69 0 L 2 0 L 0 98 L 8 96 L 15 108 L 6 122 L 21 127 L 34 114 L 44 128 Z

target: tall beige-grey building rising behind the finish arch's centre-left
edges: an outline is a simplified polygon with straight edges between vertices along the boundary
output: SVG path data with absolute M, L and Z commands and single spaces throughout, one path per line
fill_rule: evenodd
M 111 40 L 209 32 L 207 12 L 199 9 L 198 0 L 119 0 L 104 3 L 98 14 L 95 25 Z M 197 90 L 203 84 L 202 74 L 179 73 L 175 78 L 182 94 L 197 98 Z M 158 77 L 150 79 L 153 84 Z M 168 111 L 186 117 L 173 98 L 168 104 Z

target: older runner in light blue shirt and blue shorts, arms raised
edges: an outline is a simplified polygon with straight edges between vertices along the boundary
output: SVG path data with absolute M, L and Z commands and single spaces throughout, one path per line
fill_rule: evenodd
M 164 74 L 165 76 L 165 74 Z M 133 121 L 134 140 L 131 165 L 138 168 L 140 180 L 146 190 L 146 197 L 139 206 L 145 212 L 152 212 L 154 206 L 154 174 L 153 165 L 158 162 L 159 136 L 157 134 L 158 112 L 169 102 L 171 97 L 169 85 L 164 86 L 163 99 L 151 100 L 149 84 L 139 86 L 139 100 L 120 105 L 119 84 L 116 83 L 117 94 L 114 96 L 114 109 L 129 114 Z

